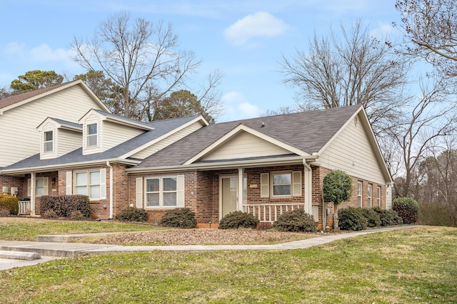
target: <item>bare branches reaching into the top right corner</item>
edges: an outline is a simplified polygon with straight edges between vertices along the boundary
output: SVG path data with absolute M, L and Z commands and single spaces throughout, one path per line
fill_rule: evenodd
M 457 2 L 397 0 L 395 7 L 406 31 L 406 53 L 424 58 L 446 75 L 457 75 Z

